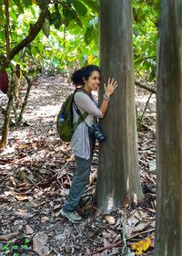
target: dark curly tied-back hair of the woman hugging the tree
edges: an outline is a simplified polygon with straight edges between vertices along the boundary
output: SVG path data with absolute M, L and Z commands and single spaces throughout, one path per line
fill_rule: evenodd
M 98 71 L 100 74 L 100 69 L 96 65 L 88 65 L 85 68 L 76 70 L 71 77 L 71 80 L 75 85 L 84 85 L 84 79 L 88 80 L 92 72 Z

